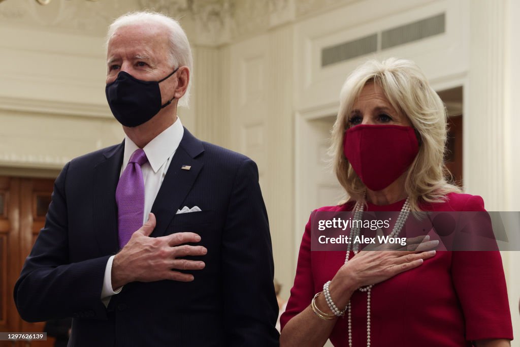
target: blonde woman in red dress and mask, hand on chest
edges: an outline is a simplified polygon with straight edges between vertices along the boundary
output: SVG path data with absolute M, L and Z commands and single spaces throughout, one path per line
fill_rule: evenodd
M 446 181 L 445 108 L 415 63 L 367 61 L 340 98 L 330 151 L 349 199 L 318 212 L 401 211 L 386 230 L 396 237 L 410 212 L 485 211 Z M 281 346 L 510 346 L 499 252 L 436 252 L 433 240 L 415 251 L 311 252 L 310 229 L 309 220 Z

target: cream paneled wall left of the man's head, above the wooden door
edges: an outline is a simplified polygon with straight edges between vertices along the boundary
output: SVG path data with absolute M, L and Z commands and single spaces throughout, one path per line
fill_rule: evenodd
M 0 4 L 0 174 L 54 177 L 123 139 L 105 97 L 104 33 L 135 4 L 99 3 Z

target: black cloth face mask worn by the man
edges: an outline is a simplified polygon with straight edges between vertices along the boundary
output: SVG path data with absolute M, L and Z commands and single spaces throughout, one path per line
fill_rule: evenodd
M 175 97 L 161 105 L 159 83 L 169 78 L 178 69 L 160 81 L 141 81 L 121 71 L 118 78 L 107 84 L 105 88 L 108 105 L 115 119 L 124 126 L 138 126 L 148 122 L 162 108 L 170 105 Z

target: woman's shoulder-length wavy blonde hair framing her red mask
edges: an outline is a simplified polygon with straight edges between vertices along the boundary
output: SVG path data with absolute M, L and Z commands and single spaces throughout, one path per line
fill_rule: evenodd
M 349 200 L 366 203 L 367 188 L 345 158 L 343 138 L 353 104 L 369 82 L 381 86 L 388 101 L 408 117 L 420 135 L 419 153 L 410 165 L 405 181 L 411 210 L 420 211 L 419 204 L 422 201 L 442 202 L 449 192 L 460 192 L 458 186 L 446 180 L 449 175 L 444 162 L 447 115 L 443 101 L 413 61 L 397 58 L 384 61 L 372 59 L 354 70 L 343 84 L 340 109 L 332 128 L 329 148 L 332 166 Z

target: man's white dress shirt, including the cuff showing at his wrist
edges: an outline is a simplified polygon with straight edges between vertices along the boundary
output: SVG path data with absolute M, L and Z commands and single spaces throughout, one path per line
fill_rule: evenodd
M 155 197 L 157 197 L 157 193 L 159 192 L 159 188 L 161 188 L 164 176 L 168 171 L 168 166 L 170 166 L 172 157 L 179 147 L 179 143 L 183 138 L 183 135 L 183 124 L 180 122 L 180 119 L 177 118 L 175 123 L 173 123 L 159 135 L 155 136 L 155 138 L 143 148 L 146 157 L 148 158 L 148 162 L 141 165 L 142 178 L 145 181 L 145 210 L 143 214 L 143 224 L 148 220 L 148 214 L 152 210 Z M 125 151 L 123 154 L 123 164 L 121 165 L 120 177 L 123 174 L 123 171 L 125 170 L 132 153 L 134 153 L 137 149 L 139 149 L 139 147 L 137 147 L 137 145 L 128 136 L 125 136 Z M 114 255 L 108 259 L 107 266 L 105 268 L 103 289 L 101 290 L 101 301 L 103 304 L 105 304 L 105 306 L 108 306 L 112 295 L 119 293 L 123 288 L 121 287 L 116 290 L 112 290 L 111 274 L 113 261 Z

